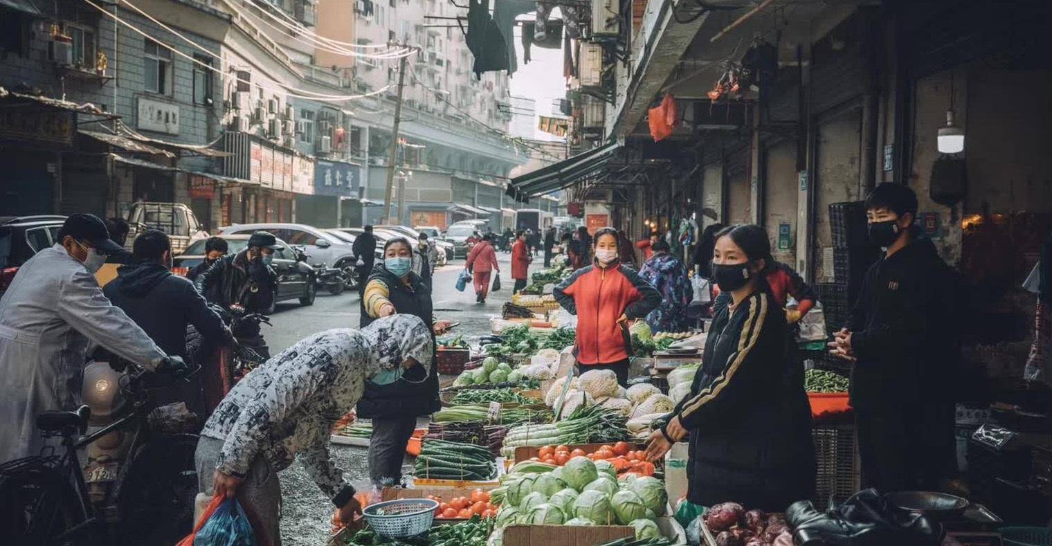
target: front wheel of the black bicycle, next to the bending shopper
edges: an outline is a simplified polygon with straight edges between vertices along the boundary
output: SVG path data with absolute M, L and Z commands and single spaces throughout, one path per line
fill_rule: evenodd
M 160 438 L 136 453 L 117 500 L 121 544 L 171 546 L 193 530 L 197 441 Z

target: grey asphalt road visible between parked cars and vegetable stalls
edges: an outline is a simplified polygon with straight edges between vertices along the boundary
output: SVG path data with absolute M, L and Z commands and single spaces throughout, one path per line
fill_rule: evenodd
M 511 266 L 509 254 L 498 252 L 500 262 L 501 291 L 491 292 L 485 304 L 474 301 L 470 285 L 463 292 L 457 291 L 457 276 L 464 268 L 464 261 L 457 260 L 434 271 L 431 300 L 434 316 L 460 322 L 451 335 L 463 333 L 473 338 L 489 333 L 489 319 L 500 316 L 501 306 L 511 299 Z M 543 257 L 534 258 L 534 269 L 543 268 Z M 272 327 L 264 326 L 263 335 L 270 346 L 271 355 L 277 355 L 304 337 L 329 328 L 357 328 L 360 317 L 360 302 L 357 290 L 332 296 L 320 291 L 315 304 L 305 307 L 299 302 L 279 303 L 270 317 Z M 369 488 L 368 464 L 364 448 L 330 445 L 337 466 L 344 469 L 356 488 Z M 406 464 L 409 464 L 407 458 Z M 408 474 L 409 467 L 405 468 Z M 321 493 L 318 486 L 307 477 L 299 462 L 279 474 L 282 488 L 281 535 L 285 546 L 321 546 L 330 534 L 332 504 Z

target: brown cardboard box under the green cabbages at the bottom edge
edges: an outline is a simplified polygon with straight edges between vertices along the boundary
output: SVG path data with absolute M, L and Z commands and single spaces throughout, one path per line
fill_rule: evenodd
M 672 518 L 658 518 L 658 528 L 673 546 L 687 544 L 683 527 Z M 635 531 L 627 525 L 509 525 L 504 529 L 503 546 L 594 546 L 626 537 Z

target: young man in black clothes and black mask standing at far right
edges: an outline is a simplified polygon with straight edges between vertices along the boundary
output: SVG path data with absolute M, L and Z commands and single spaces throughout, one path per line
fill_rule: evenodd
M 886 248 L 863 280 L 832 353 L 853 362 L 863 487 L 938 490 L 952 479 L 958 358 L 955 272 L 913 226 L 916 195 L 881 184 L 866 199 L 869 237 Z

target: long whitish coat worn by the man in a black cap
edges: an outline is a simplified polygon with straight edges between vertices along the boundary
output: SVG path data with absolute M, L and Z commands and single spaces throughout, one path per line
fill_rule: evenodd
M 165 358 L 62 245 L 37 252 L 0 298 L 0 462 L 39 454 L 38 413 L 76 409 L 88 342 L 146 369 Z

